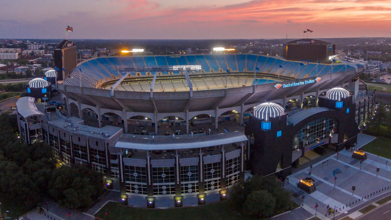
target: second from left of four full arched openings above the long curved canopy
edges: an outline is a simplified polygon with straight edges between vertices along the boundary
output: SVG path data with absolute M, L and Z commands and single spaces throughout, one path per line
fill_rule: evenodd
M 185 119 L 175 115 L 163 117 L 158 121 L 158 132 L 160 135 L 186 134 L 186 123 Z

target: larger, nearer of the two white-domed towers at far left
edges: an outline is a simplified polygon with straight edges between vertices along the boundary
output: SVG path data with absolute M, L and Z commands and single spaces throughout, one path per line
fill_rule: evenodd
M 35 78 L 27 84 L 27 95 L 34 97 L 39 102 L 45 102 L 50 99 L 52 92 L 52 83 L 45 79 Z

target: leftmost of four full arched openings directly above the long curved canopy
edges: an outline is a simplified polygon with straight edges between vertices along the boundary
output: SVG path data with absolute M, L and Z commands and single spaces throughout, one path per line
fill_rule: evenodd
M 138 135 L 155 135 L 155 123 L 143 115 L 135 115 L 127 119 L 128 132 Z

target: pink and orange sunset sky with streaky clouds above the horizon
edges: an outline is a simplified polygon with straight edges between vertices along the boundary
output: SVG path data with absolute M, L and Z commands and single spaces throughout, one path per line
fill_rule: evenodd
M 391 37 L 391 0 L 1 1 L 0 38 Z

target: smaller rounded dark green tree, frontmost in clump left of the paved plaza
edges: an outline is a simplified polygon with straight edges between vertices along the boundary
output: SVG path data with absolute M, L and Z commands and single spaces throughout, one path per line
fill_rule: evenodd
M 247 196 L 244 210 L 250 215 L 270 216 L 274 214 L 276 199 L 266 190 L 253 191 Z

